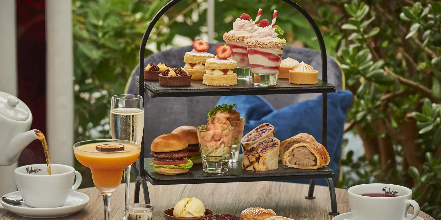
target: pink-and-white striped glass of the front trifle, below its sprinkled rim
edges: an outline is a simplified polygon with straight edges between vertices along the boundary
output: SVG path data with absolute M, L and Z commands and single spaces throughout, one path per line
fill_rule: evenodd
M 276 85 L 283 47 L 247 47 L 254 85 Z

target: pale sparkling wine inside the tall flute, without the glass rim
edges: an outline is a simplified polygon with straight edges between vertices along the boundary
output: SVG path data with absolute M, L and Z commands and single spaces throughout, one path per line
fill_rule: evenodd
M 138 108 L 116 108 L 110 111 L 112 139 L 141 143 L 144 111 Z

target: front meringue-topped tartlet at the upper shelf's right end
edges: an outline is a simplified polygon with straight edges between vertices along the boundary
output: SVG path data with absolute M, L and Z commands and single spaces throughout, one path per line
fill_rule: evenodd
M 318 71 L 302 61 L 289 70 L 289 83 L 317 84 Z

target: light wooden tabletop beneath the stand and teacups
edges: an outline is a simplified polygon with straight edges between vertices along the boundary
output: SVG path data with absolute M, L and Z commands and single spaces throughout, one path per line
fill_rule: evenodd
M 149 184 L 149 183 L 148 183 Z M 131 201 L 133 202 L 135 185 L 131 184 Z M 59 218 L 60 220 L 102 220 L 104 205 L 100 192 L 95 187 L 78 190 L 90 197 L 89 204 L 74 215 Z M 328 187 L 316 186 L 316 199 L 307 200 L 305 196 L 308 185 L 283 182 L 248 182 L 248 183 L 208 183 L 189 185 L 149 184 L 150 201 L 153 208 L 153 220 L 164 220 L 165 209 L 173 208 L 181 198 L 196 197 L 204 202 L 213 214 L 230 213 L 240 216 L 243 209 L 264 207 L 273 209 L 277 215 L 294 220 L 331 220 L 331 202 Z M 336 189 L 338 212 L 350 212 L 347 192 Z M 123 184 L 113 193 L 111 199 L 111 219 L 123 219 L 124 206 Z M 142 200 L 141 200 L 142 201 Z M 412 212 L 410 210 L 410 212 Z M 420 212 L 424 220 L 434 220 L 426 213 Z M 31 220 L 16 216 L 10 212 L 0 213 L 0 220 Z

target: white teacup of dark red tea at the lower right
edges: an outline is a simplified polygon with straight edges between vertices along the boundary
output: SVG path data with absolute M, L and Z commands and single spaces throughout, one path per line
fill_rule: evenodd
M 419 205 L 411 198 L 409 188 L 393 184 L 369 183 L 348 189 L 349 206 L 355 220 L 414 220 L 419 214 Z M 410 205 L 414 214 L 407 218 Z

